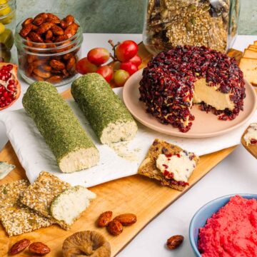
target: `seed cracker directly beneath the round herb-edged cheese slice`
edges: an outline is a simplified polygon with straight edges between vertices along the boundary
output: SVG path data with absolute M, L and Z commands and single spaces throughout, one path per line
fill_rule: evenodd
M 71 188 L 69 183 L 61 181 L 56 176 L 42 171 L 36 181 L 32 183 L 21 197 L 21 203 L 33 209 L 41 216 L 50 218 L 53 223 L 58 223 L 61 228 L 69 229 L 70 226 L 64 221 L 57 221 L 51 216 L 51 203 L 54 198 L 64 190 Z

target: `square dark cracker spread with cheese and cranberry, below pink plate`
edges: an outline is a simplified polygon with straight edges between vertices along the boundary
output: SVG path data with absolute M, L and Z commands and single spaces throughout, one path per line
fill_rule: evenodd
M 138 173 L 161 181 L 163 186 L 183 191 L 188 186 L 188 178 L 196 168 L 198 159 L 196 154 L 156 138 Z

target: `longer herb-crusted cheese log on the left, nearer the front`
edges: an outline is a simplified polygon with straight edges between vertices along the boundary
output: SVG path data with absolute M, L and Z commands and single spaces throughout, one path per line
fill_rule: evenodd
M 22 104 L 54 153 L 62 172 L 80 171 L 98 163 L 99 151 L 52 84 L 31 84 Z

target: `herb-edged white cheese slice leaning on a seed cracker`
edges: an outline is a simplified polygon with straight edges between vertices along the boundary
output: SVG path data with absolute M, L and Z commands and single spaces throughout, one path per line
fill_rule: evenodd
M 87 188 L 74 186 L 56 196 L 51 203 L 51 215 L 71 226 L 94 198 L 96 194 Z

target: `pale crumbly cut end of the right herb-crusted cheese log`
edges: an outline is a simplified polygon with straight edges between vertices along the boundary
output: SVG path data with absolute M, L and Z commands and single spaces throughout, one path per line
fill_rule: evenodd
M 101 135 L 101 143 L 116 143 L 131 140 L 138 128 L 135 121 L 111 123 L 104 129 Z

